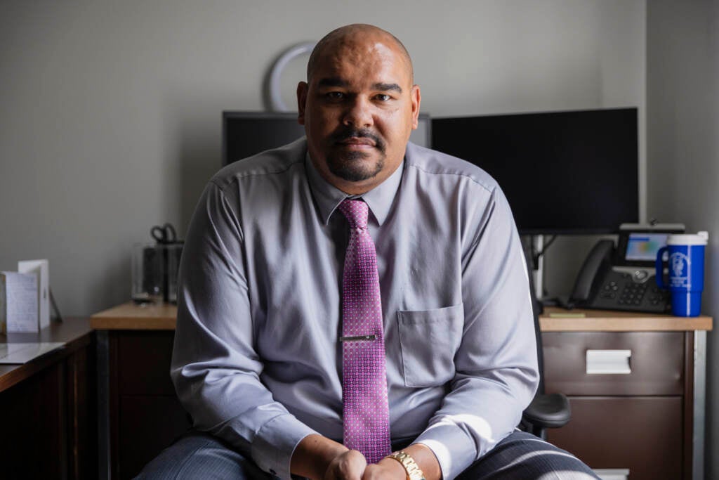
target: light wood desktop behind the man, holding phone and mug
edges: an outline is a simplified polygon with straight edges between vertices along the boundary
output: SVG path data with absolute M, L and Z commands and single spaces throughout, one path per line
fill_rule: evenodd
M 94 314 L 90 325 L 97 330 L 174 330 L 176 316 L 174 305 L 139 306 L 130 302 Z M 539 324 L 542 332 L 688 331 L 711 330 L 712 318 L 547 307 Z

